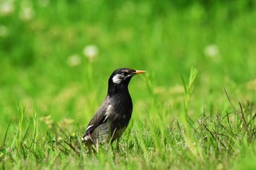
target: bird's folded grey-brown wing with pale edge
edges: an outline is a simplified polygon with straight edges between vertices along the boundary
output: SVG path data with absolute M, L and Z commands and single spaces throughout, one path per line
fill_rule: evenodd
M 110 104 L 110 100 L 107 97 L 102 104 L 101 107 L 97 110 L 94 117 L 92 117 L 91 121 L 89 122 L 89 125 L 87 125 L 86 132 L 83 134 L 83 137 L 87 136 L 88 134 L 91 134 L 94 129 L 100 125 L 101 123 L 105 122 L 109 115 L 113 112 L 113 106 Z

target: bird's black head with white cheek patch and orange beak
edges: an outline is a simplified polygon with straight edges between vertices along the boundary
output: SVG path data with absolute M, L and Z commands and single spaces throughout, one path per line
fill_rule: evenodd
M 110 76 L 108 80 L 108 88 L 121 88 L 127 87 L 129 81 L 134 75 L 145 73 L 142 70 L 134 70 L 134 69 L 116 69 Z

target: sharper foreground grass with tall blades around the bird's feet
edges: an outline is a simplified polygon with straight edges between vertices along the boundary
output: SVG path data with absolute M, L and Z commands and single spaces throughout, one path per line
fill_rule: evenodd
M 23 104 L 20 107 L 18 104 L 20 118 L 15 134 L 12 136 L 8 125 L 7 136 L 11 137 L 4 138 L 1 145 L 2 167 L 27 169 L 32 164 L 50 169 L 234 168 L 233 160 L 245 148 L 254 150 L 255 106 L 250 102 L 239 103 L 236 108 L 227 94 L 233 110 L 204 112 L 192 120 L 187 112 L 196 76 L 197 70 L 192 69 L 188 84 L 184 80 L 184 115 L 181 119 L 171 119 L 169 109 L 149 102 L 150 109 L 144 112 L 147 120 L 144 123 L 132 121 L 121 138 L 119 152 L 114 143 L 113 147 L 107 144 L 100 147 L 99 153 L 89 154 L 74 121 L 56 123 L 49 116 L 39 119 L 34 109 L 31 110 L 34 116 L 28 125 L 24 125 L 26 106 Z M 135 126 L 135 122 L 141 123 Z M 48 125 L 47 128 L 40 127 L 44 123 Z M 70 125 L 71 131 L 68 129 Z

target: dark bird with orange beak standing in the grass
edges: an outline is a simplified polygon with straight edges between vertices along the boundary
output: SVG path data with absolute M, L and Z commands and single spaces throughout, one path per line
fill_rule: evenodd
M 119 142 L 132 116 L 132 98 L 128 85 L 133 76 L 142 73 L 145 71 L 121 68 L 110 75 L 105 101 L 90 120 L 82 137 L 82 142 L 89 150 L 94 145 L 98 152 L 99 145 L 112 144 L 116 139 Z

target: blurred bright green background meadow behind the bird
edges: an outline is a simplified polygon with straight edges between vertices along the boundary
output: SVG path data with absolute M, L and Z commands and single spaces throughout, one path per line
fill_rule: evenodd
M 199 74 L 190 115 L 230 106 L 224 88 L 235 100 L 255 101 L 255 6 L 255 0 L 1 0 L 0 135 L 10 119 L 12 130 L 18 124 L 16 104 L 26 104 L 26 121 L 35 110 L 82 133 L 105 98 L 108 77 L 121 67 L 147 71 L 129 86 L 135 122 L 148 117 L 141 108 L 152 98 L 178 117 L 181 77 L 187 80 L 192 66 Z

